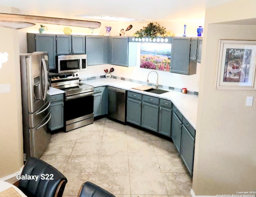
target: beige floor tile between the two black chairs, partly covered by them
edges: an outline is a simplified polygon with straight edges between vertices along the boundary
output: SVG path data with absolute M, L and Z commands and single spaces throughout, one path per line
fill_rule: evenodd
M 63 195 L 78 195 L 80 187 L 86 181 L 94 183 L 96 172 L 64 172 L 63 175 L 67 178 L 68 182 L 64 189 Z

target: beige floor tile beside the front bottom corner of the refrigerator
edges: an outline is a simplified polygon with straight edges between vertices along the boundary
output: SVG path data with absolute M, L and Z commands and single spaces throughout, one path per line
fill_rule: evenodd
M 50 143 L 43 155 L 70 155 L 76 142 Z

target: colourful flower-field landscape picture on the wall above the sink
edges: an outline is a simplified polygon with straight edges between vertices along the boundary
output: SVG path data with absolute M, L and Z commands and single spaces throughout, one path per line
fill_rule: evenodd
M 140 67 L 170 71 L 172 44 L 141 43 Z

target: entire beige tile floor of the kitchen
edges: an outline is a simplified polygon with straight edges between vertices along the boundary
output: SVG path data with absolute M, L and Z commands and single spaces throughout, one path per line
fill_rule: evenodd
M 108 118 L 53 134 L 40 159 L 68 179 L 64 197 L 85 181 L 116 197 L 189 197 L 192 187 L 172 142 Z

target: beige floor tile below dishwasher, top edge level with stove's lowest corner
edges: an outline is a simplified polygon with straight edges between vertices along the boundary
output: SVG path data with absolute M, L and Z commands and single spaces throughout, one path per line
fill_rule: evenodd
M 104 133 L 102 136 L 102 142 L 120 142 L 127 141 L 125 130 L 115 130 L 104 128 Z

